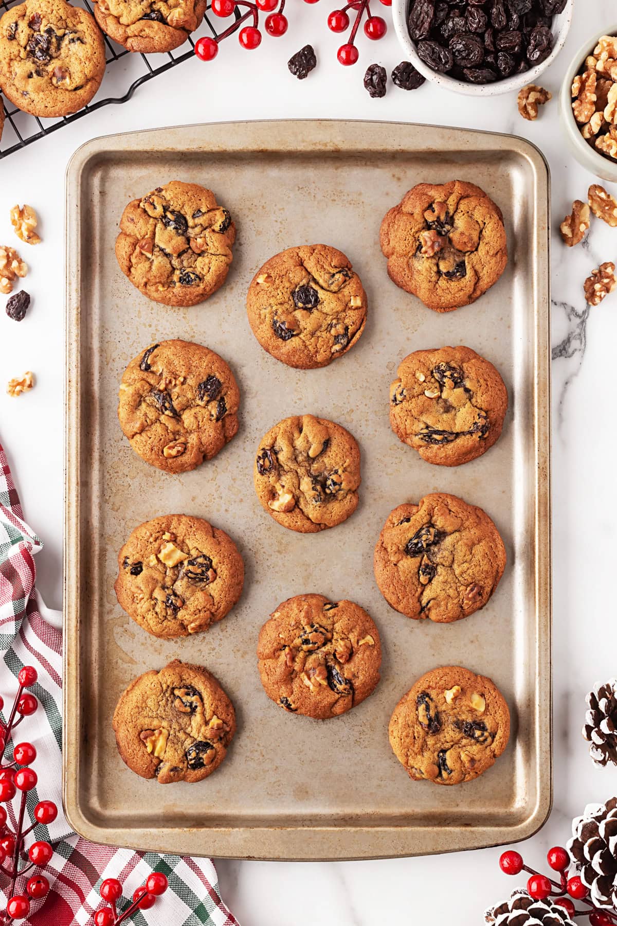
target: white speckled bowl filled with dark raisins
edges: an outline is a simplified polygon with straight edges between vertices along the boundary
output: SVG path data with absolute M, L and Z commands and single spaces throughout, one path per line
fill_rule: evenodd
M 429 81 L 470 96 L 518 91 L 560 53 L 574 0 L 393 0 L 399 40 Z

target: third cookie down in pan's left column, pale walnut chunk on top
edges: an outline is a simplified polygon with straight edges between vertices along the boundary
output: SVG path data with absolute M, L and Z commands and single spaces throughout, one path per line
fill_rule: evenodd
M 140 524 L 117 555 L 117 600 L 158 637 L 206 631 L 241 596 L 244 564 L 225 531 L 202 518 L 165 515 Z

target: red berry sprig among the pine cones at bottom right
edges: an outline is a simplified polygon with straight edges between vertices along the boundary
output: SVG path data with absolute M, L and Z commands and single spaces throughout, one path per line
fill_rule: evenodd
M 534 897 L 535 900 L 546 900 L 547 897 L 553 898 L 553 903 L 563 907 L 570 918 L 588 916 L 591 926 L 613 926 L 617 923 L 617 910 L 598 909 L 587 897 L 589 894 L 585 884 L 578 875 L 568 878 L 566 871 L 570 867 L 570 856 L 567 849 L 561 845 L 554 845 L 549 849 L 547 854 L 549 868 L 553 871 L 559 871 L 560 881 L 552 881 L 544 874 L 540 874 L 528 865 L 524 864 L 523 856 L 513 849 L 504 852 L 500 856 L 500 869 L 505 874 L 519 874 L 526 871 L 531 875 L 527 882 L 527 893 Z M 574 907 L 574 900 L 579 900 L 591 907 L 586 910 L 577 910 Z

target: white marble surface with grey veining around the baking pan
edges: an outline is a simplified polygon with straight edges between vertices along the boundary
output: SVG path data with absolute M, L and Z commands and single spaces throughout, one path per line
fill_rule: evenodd
M 368 47 L 342 69 L 337 36 L 325 19 L 334 6 L 290 0 L 290 31 L 265 40 L 256 52 L 234 38 L 212 64 L 187 62 L 123 106 L 107 106 L 0 161 L 0 240 L 11 241 L 8 208 L 36 206 L 44 244 L 30 251 L 31 312 L 19 326 L 0 317 L 0 382 L 24 369 L 37 386 L 19 400 L 0 389 L 0 440 L 17 477 L 27 519 L 43 537 L 38 585 L 47 604 L 61 607 L 63 183 L 68 157 L 82 142 L 114 131 L 225 119 L 329 117 L 391 119 L 513 132 L 535 142 L 552 172 L 553 232 L 574 197 L 585 198 L 591 175 L 576 166 L 563 144 L 557 101 L 537 122 L 518 115 L 513 96 L 474 100 L 425 85 L 414 93 L 393 86 L 383 100 L 364 91 L 364 68 L 401 60 L 396 38 Z M 377 3 L 374 6 L 379 6 Z M 614 22 L 611 0 L 577 0 L 574 24 L 561 56 L 542 81 L 557 96 L 569 57 L 604 25 Z M 380 9 L 379 12 L 382 12 Z M 384 9 L 389 18 L 389 12 Z M 302 44 L 315 44 L 319 66 L 302 83 L 285 62 Z M 124 69 L 124 65 L 117 66 Z M 251 69 L 249 71 L 249 69 Z M 615 192 L 613 190 L 613 192 Z M 28 250 L 25 246 L 22 251 Z M 617 536 L 611 394 L 615 383 L 617 293 L 585 314 L 582 282 L 598 261 L 617 257 L 617 232 L 596 221 L 588 244 L 571 251 L 553 234 L 553 537 L 555 799 L 545 828 L 524 846 L 541 865 L 549 845 L 563 843 L 570 820 L 589 801 L 617 789 L 612 770 L 596 769 L 580 736 L 584 696 L 597 679 L 615 673 L 612 569 Z M 448 848 L 447 835 L 444 849 Z M 499 849 L 427 858 L 337 864 L 219 861 L 223 895 L 242 926 L 374 926 L 445 920 L 472 926 L 491 901 L 509 894 L 521 878 L 498 867 Z

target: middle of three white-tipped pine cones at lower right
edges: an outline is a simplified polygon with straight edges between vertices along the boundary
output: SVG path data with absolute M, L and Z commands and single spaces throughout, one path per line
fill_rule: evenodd
M 572 821 L 566 848 L 589 888 L 596 907 L 617 906 L 617 797 L 606 804 L 587 804 L 582 817 Z

